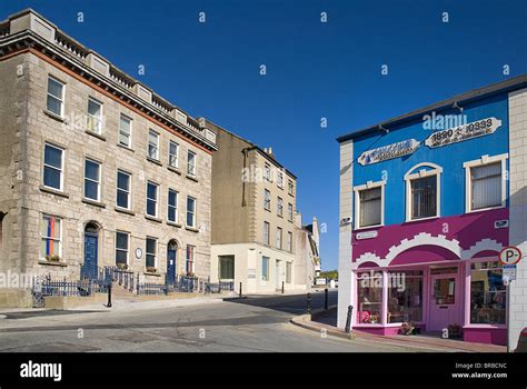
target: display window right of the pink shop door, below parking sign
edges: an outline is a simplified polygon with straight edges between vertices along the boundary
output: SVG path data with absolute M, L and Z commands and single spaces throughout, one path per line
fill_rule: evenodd
M 470 322 L 505 325 L 506 287 L 497 261 L 470 265 Z

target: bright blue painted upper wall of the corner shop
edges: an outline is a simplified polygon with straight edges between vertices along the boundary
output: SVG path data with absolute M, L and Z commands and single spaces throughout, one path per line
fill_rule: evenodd
M 501 120 L 501 126 L 494 133 L 437 148 L 429 148 L 425 144 L 426 138 L 437 130 L 424 129 L 422 118 L 404 124 L 392 126 L 386 134 L 381 131 L 375 131 L 354 139 L 352 186 L 360 186 L 368 181 L 386 180 L 385 226 L 399 225 L 406 221 L 405 174 L 416 164 L 431 162 L 443 168 L 443 173 L 440 174 L 440 217 L 457 216 L 466 211 L 464 162 L 479 159 L 485 154 L 491 157 L 508 152 L 509 122 L 507 93 L 495 94 L 473 103 L 467 103 L 463 108 L 463 114 L 466 116 L 467 123 L 495 117 Z M 453 109 L 438 113 L 457 116 L 459 111 Z M 357 162 L 357 158 L 366 150 L 409 139 L 416 139 L 420 142 L 420 146 L 411 154 L 366 166 Z M 508 199 L 508 181 L 506 187 Z

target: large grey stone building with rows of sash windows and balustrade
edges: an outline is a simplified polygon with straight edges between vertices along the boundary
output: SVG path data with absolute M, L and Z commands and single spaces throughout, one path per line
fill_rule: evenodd
M 211 130 L 32 10 L 0 83 L 0 271 L 209 277 Z

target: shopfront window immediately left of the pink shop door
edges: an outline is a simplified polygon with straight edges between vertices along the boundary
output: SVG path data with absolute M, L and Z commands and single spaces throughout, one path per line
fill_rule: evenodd
M 388 272 L 387 322 L 422 320 L 422 271 Z

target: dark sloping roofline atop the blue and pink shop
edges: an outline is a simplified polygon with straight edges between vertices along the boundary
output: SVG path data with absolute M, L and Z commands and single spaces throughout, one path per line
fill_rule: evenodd
M 443 100 L 430 106 L 426 106 L 424 108 L 410 111 L 408 113 L 398 116 L 392 119 L 388 119 L 378 124 L 367 127 L 361 130 L 351 131 L 349 133 L 338 137 L 337 141 L 339 143 L 342 143 L 345 141 L 351 140 L 362 134 L 374 132 L 374 131 L 379 131 L 381 128 L 386 129 L 388 126 L 401 124 L 404 122 L 412 121 L 431 111 L 441 111 L 445 109 L 451 109 L 454 108 L 453 106 L 455 103 L 463 104 L 463 103 L 467 103 L 471 101 L 477 101 L 493 94 L 509 92 L 509 91 L 514 91 L 514 90 L 518 90 L 523 88 L 527 88 L 527 74 L 517 76 L 515 78 L 511 78 L 505 81 L 499 81 L 499 82 L 491 83 L 483 88 L 473 89 L 468 92 L 457 94 L 450 99 Z

